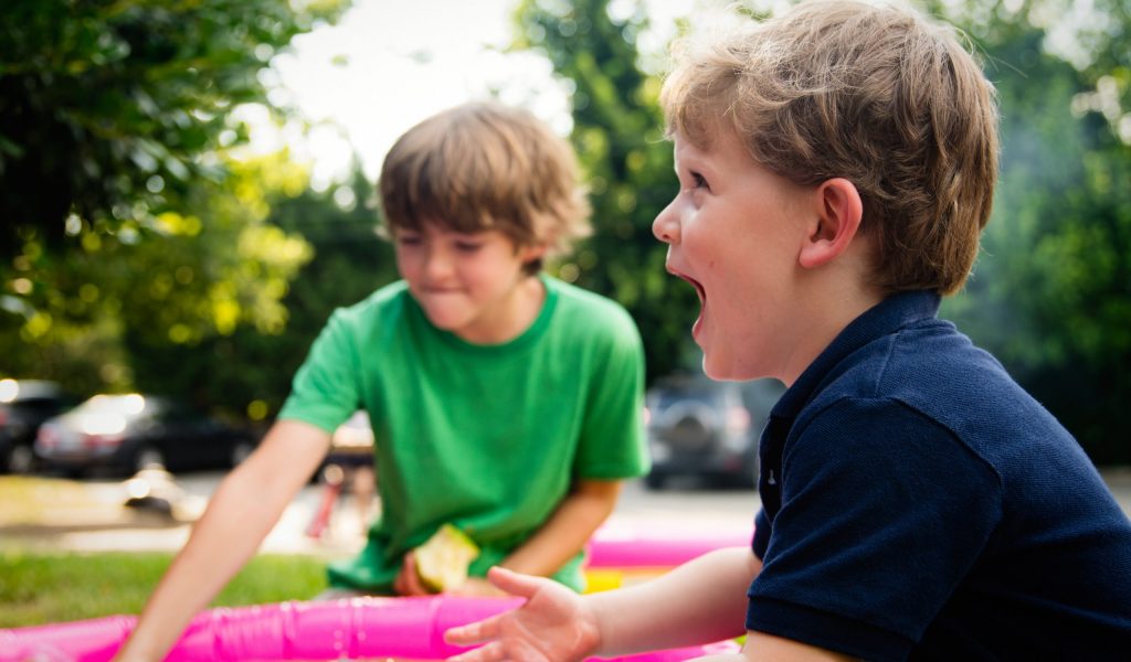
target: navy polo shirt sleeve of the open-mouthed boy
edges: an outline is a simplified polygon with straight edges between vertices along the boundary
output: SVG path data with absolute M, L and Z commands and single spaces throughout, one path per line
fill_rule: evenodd
M 798 425 L 783 455 L 782 507 L 759 521 L 770 531 L 746 627 L 904 660 L 988 543 L 998 474 L 895 400 L 840 400 Z

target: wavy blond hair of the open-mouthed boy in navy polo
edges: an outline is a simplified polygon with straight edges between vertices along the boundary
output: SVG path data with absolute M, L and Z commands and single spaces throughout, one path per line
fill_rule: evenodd
M 851 181 L 883 291 L 958 290 L 998 177 L 993 86 L 953 29 L 852 0 L 805 2 L 711 43 L 682 40 L 662 93 L 668 131 L 731 131 L 795 183 Z

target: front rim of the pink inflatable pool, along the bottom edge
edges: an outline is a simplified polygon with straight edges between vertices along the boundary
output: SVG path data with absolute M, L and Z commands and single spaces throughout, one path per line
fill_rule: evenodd
M 437 660 L 460 648 L 443 642 L 450 627 L 513 608 L 513 598 L 356 598 L 283 602 L 202 612 L 167 662 L 268 662 L 275 660 Z M 0 662 L 103 662 L 133 628 L 133 617 L 0 630 Z M 736 652 L 734 642 L 622 657 L 675 662 Z

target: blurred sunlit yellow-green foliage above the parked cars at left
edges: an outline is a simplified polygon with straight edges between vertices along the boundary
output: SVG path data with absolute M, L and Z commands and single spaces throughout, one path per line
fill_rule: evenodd
M 222 184 L 198 183 L 149 227 L 87 232 L 66 259 L 28 241 L 14 273 L 29 312 L 0 314 L 0 347 L 20 348 L 5 368 L 83 393 L 137 386 L 216 402 L 195 374 L 215 360 L 200 349 L 241 328 L 284 329 L 282 299 L 311 251 L 266 216 L 305 188 L 285 154 L 232 162 Z

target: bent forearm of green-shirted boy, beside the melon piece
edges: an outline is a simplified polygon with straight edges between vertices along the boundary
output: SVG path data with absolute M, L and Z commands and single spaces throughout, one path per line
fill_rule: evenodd
M 621 482 L 580 480 L 524 545 L 499 565 L 527 575 L 549 577 L 585 547 L 616 506 Z

